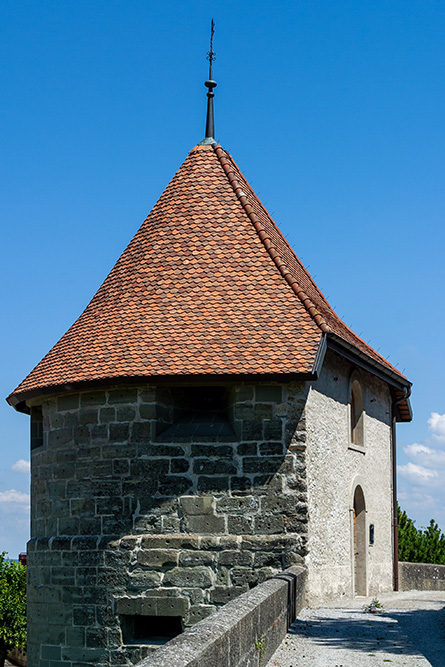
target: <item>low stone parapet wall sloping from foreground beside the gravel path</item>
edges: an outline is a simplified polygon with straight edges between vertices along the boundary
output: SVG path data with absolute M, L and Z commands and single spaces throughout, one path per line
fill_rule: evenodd
M 137 663 L 137 667 L 266 664 L 304 602 L 306 571 L 285 572 L 229 602 Z M 261 651 L 258 640 L 261 640 Z

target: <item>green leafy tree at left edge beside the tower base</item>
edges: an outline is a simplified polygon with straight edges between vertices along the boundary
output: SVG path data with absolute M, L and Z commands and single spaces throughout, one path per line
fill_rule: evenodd
M 0 554 L 0 667 L 7 651 L 26 650 L 26 566 Z

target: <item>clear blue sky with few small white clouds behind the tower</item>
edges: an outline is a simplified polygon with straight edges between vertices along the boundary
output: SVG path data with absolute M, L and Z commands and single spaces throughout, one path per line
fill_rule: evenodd
M 0 1 L 0 381 L 65 333 L 204 136 L 337 313 L 413 382 L 398 495 L 445 530 L 445 3 Z M 0 405 L 0 551 L 26 548 L 29 418 Z

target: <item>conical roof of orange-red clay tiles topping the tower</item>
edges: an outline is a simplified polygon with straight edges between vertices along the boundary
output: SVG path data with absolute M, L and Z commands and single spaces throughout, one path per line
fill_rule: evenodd
M 400 375 L 337 317 L 231 156 L 198 145 L 8 400 L 119 378 L 310 375 L 324 334 Z

